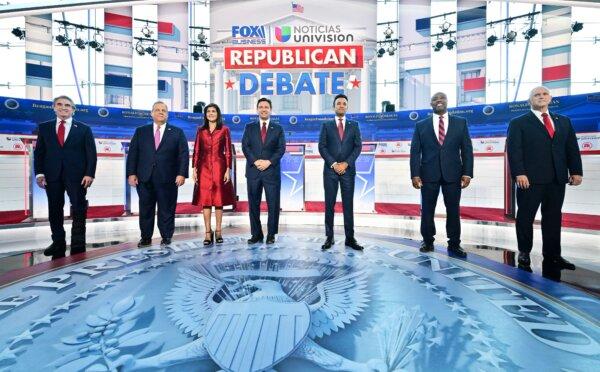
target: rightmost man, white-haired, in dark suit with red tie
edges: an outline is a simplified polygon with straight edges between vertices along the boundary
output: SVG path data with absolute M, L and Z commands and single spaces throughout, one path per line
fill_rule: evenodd
M 581 155 L 568 117 L 548 112 L 552 101 L 545 87 L 529 95 L 531 111 L 510 121 L 506 151 L 510 172 L 517 184 L 518 267 L 532 272 L 533 221 L 542 206 L 542 275 L 560 281 L 560 270 L 575 270 L 561 257 L 561 209 L 565 184 L 583 180 Z

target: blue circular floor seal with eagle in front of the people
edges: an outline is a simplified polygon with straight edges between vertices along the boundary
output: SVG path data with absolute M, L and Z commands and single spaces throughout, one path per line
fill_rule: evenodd
M 179 240 L 5 286 L 0 370 L 600 370 L 598 313 L 401 239 L 322 240 Z

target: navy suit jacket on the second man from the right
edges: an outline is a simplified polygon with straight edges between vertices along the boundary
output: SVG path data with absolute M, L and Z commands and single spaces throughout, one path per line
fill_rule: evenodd
M 421 177 L 423 182 L 458 182 L 461 176 L 473 177 L 473 145 L 467 120 L 448 115 L 446 137 L 440 145 L 433 118 L 423 119 L 415 126 L 410 143 L 410 177 Z

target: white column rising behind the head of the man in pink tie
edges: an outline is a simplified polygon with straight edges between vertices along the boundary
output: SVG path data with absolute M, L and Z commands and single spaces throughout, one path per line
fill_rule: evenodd
M 152 31 L 150 39 L 158 38 L 158 24 L 152 22 L 136 21 L 144 19 L 153 22 L 158 21 L 157 5 L 134 5 L 132 7 L 132 34 L 133 37 L 145 37 L 142 34 L 142 28 L 147 26 Z M 132 39 L 133 48 L 133 69 L 132 69 L 132 91 L 131 91 L 131 108 L 140 110 L 150 110 L 152 103 L 158 100 L 158 58 L 152 57 L 145 53 L 139 55 L 135 51 L 136 39 Z M 145 46 L 150 46 L 151 43 L 146 42 Z M 156 47 L 156 43 L 154 46 Z M 159 51 L 160 53 L 160 51 Z

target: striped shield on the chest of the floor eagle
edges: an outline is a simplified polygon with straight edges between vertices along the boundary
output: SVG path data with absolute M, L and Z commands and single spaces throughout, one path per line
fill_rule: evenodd
M 304 302 L 223 301 L 206 324 L 204 343 L 226 371 L 262 371 L 290 355 L 309 326 Z

